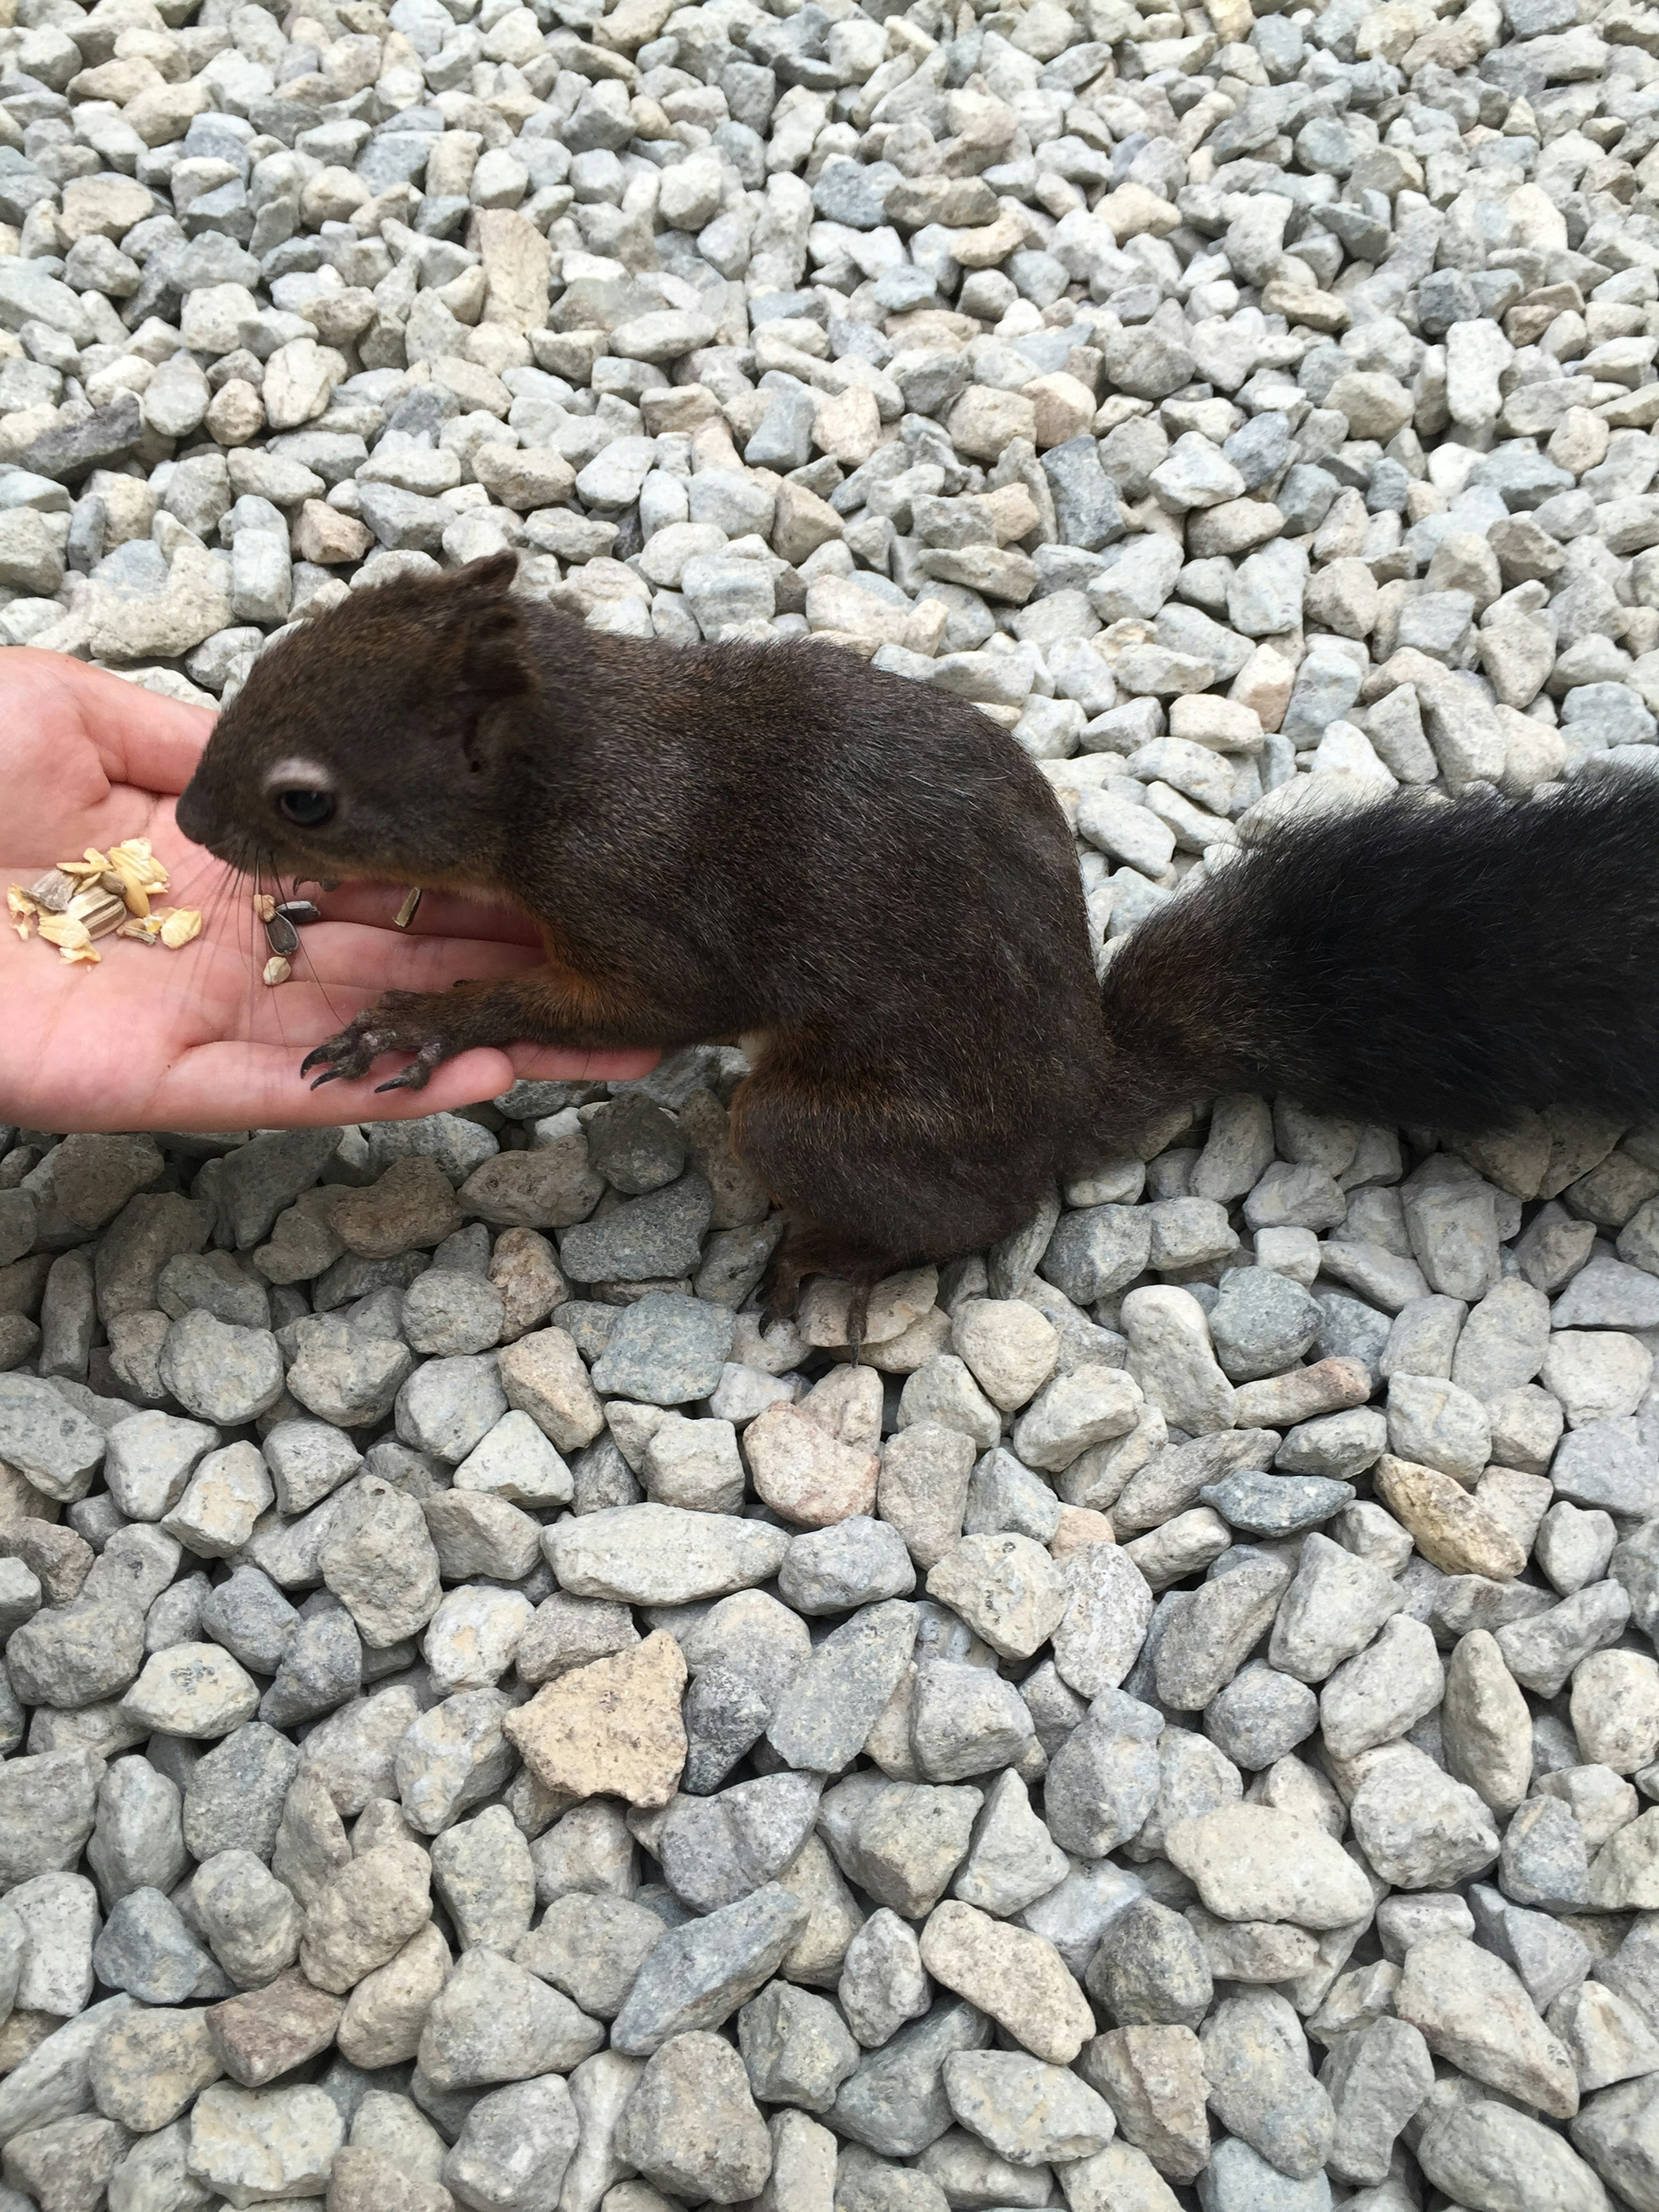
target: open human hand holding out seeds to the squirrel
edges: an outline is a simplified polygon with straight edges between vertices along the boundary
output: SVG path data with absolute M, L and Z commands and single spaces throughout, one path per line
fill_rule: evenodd
M 84 661 L 0 650 L 0 887 L 27 887 L 86 845 L 146 836 L 173 876 L 166 905 L 201 911 L 201 936 L 181 951 L 102 938 L 97 967 L 0 929 L 0 1121 L 58 1133 L 407 1121 L 498 1097 L 520 1075 L 626 1082 L 655 1066 L 648 1051 L 524 1044 L 460 1053 L 416 1093 L 378 1097 L 374 1079 L 312 1093 L 303 1055 L 383 991 L 509 975 L 542 953 L 507 911 L 427 896 L 416 929 L 400 931 L 396 891 L 345 885 L 301 931 L 292 980 L 261 982 L 254 885 L 173 821 L 210 728 L 206 708 Z

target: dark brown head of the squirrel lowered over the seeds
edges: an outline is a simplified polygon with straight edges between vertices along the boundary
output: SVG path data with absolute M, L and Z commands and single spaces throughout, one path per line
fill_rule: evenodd
M 511 805 L 538 690 L 513 553 L 354 591 L 263 653 L 179 799 L 234 867 L 460 883 Z

